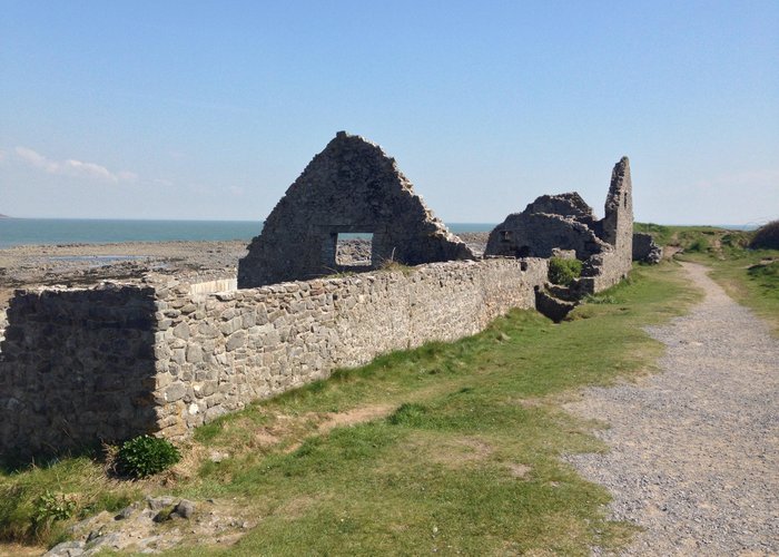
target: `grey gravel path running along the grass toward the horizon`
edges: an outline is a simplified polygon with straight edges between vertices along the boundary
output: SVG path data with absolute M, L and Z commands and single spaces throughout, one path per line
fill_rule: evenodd
M 608 455 L 566 460 L 638 524 L 623 555 L 779 555 L 779 341 L 707 276 L 704 301 L 649 333 L 662 373 L 588 390 L 569 409 L 611 428 Z

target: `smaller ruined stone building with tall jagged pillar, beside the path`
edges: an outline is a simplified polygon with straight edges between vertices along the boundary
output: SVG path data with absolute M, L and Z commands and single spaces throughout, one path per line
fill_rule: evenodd
M 622 157 L 611 173 L 602 219 L 575 192 L 542 195 L 492 231 L 484 255 L 551 257 L 570 251 L 585 263 L 580 292 L 601 291 L 628 276 L 631 268 L 632 195 L 630 162 Z

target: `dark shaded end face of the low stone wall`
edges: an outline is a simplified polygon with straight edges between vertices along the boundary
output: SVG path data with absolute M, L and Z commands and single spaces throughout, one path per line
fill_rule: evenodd
M 50 452 L 155 429 L 154 294 L 17 292 L 0 352 L 0 449 Z

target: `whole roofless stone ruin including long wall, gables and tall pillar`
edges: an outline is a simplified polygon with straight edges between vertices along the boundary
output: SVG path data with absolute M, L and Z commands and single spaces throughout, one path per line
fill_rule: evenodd
M 17 291 L 0 315 L 0 451 L 183 438 L 334 369 L 474 334 L 513 307 L 563 314 L 566 296 L 629 272 L 632 219 L 623 158 L 604 218 L 578 194 L 542 196 L 497 226 L 477 257 L 394 159 L 338 133 L 253 240 L 238 289 L 220 271 Z M 349 268 L 338 236 L 354 233 L 372 235 L 369 262 L 333 275 Z M 569 292 L 548 284 L 553 254 L 584 261 Z M 416 266 L 376 272 L 386 261 Z

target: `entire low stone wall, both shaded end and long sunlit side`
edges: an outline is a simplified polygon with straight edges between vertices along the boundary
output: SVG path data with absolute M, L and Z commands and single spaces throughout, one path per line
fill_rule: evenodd
M 168 438 L 376 355 L 476 333 L 534 307 L 545 260 L 213 292 L 230 283 L 21 292 L 0 358 L 0 450 L 60 451 L 144 432 Z

